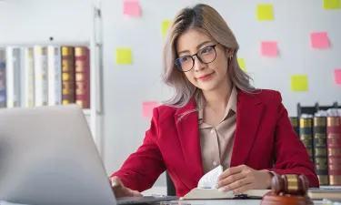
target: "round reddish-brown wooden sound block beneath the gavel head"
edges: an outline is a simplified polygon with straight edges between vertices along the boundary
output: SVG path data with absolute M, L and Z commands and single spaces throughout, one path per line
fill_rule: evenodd
M 313 205 L 313 201 L 308 196 L 300 195 L 277 195 L 273 190 L 263 196 L 261 205 Z

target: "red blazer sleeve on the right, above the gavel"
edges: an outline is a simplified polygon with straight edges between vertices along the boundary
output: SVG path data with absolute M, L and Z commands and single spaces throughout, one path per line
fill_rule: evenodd
M 276 92 L 275 100 L 278 105 L 274 141 L 275 168 L 268 170 L 279 175 L 303 174 L 309 181 L 309 187 L 319 187 L 315 165 L 309 159 L 305 145 L 297 137 L 290 123 L 279 92 Z

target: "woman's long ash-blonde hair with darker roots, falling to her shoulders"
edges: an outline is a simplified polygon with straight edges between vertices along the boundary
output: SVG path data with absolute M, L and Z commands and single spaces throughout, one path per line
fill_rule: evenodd
M 236 37 L 227 26 L 223 17 L 213 7 L 198 4 L 180 10 L 171 23 L 166 36 L 162 78 L 166 85 L 174 88 L 175 93 L 173 97 L 164 102 L 165 105 L 182 108 L 192 97 L 196 98 L 196 102 L 200 102 L 200 99 L 203 97 L 201 91 L 192 85 L 184 73 L 178 70 L 174 64 L 177 56 L 177 39 L 188 29 L 198 29 L 207 36 L 213 37 L 222 46 L 233 50 L 234 53 L 232 59 L 229 60 L 228 67 L 228 75 L 232 84 L 246 93 L 256 91 L 256 88 L 250 85 L 252 78 L 238 65 L 236 54 L 239 46 L 236 42 Z

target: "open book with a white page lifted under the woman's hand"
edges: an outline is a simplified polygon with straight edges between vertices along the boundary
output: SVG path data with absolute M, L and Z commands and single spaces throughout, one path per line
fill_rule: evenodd
M 247 190 L 241 195 L 232 192 L 220 192 L 216 189 L 219 175 L 223 173 L 220 165 L 216 169 L 207 172 L 198 182 L 197 188 L 189 191 L 181 200 L 216 200 L 216 199 L 235 199 L 240 196 L 245 198 L 262 198 L 270 190 Z

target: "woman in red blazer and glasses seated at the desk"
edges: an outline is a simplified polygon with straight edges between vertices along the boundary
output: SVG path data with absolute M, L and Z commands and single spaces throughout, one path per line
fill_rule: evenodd
M 175 94 L 154 109 L 143 145 L 111 176 L 116 196 L 139 196 L 165 170 L 184 196 L 218 165 L 221 191 L 268 189 L 274 173 L 304 174 L 310 187 L 319 186 L 280 93 L 252 87 L 237 51 L 214 8 L 196 5 L 176 15 L 163 74 Z

